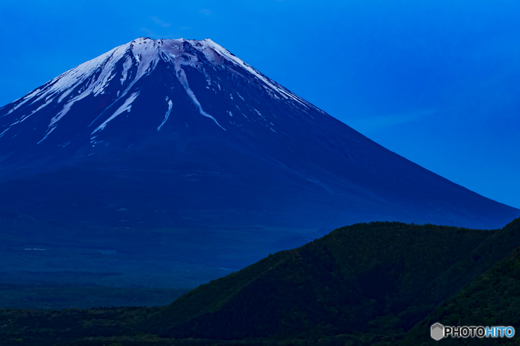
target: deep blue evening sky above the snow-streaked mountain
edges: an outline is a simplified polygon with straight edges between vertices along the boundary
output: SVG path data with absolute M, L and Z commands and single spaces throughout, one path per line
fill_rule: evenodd
M 520 208 L 517 0 L 0 3 L 0 103 L 139 36 L 210 37 L 419 165 Z

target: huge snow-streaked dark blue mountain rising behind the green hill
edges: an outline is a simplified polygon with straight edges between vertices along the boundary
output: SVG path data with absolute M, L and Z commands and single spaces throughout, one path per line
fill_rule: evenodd
M 207 260 L 355 222 L 496 229 L 520 215 L 386 150 L 210 39 L 140 37 L 1 108 L 0 196 L 4 213 L 31 220 L 24 242 L 166 254 L 174 237 L 176 253 Z

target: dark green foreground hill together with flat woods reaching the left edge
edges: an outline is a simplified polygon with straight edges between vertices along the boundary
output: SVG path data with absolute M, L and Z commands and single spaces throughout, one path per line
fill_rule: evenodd
M 503 273 L 496 269 L 499 267 L 490 271 L 496 274 L 486 274 L 488 279 L 474 280 L 520 245 L 519 223 L 517 219 L 495 231 L 398 222 L 355 224 L 201 285 L 165 307 L 3 310 L 0 322 L 7 326 L 0 333 L 0 342 L 428 343 L 429 331 L 424 328 L 429 327 L 432 316 L 465 316 L 464 311 L 454 310 L 454 305 L 441 303 L 464 292 L 461 289 L 470 283 L 506 280 L 504 288 L 515 287 L 509 280 L 514 273 Z M 514 264 L 510 267 L 503 264 L 500 268 L 511 271 Z M 490 292 L 488 288 L 485 291 Z M 519 292 L 509 289 L 504 295 L 518 297 Z M 501 305 L 492 309 L 499 311 L 500 307 L 506 309 L 509 300 L 497 303 Z M 514 321 L 508 322 L 502 321 Z M 414 341 L 421 337 L 422 341 Z

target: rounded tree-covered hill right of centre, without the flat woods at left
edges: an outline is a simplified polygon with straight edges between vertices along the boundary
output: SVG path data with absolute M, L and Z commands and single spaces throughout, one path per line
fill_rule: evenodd
M 414 305 L 428 283 L 491 234 L 399 222 L 343 227 L 190 291 L 165 308 L 153 332 L 229 340 L 366 330 L 370 319 Z M 420 304 L 414 323 L 447 297 Z

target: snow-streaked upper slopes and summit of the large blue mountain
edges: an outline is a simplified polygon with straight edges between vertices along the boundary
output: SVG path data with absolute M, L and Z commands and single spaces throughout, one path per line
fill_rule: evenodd
M 197 75 L 193 74 L 195 71 Z M 64 148 L 68 145 L 75 147 L 77 143 L 82 146 L 87 137 L 89 142 L 94 143 L 92 148 L 95 148 L 101 141 L 114 141 L 114 136 L 121 140 L 127 137 L 121 129 L 123 121 L 126 121 L 125 125 L 139 121 L 139 127 L 144 126 L 140 128 L 141 133 L 171 127 L 172 121 L 168 122 L 168 118 L 170 115 L 178 118 L 181 105 L 187 103 L 186 99 L 191 109 L 220 130 L 240 129 L 245 126 L 245 121 L 258 123 L 268 131 L 277 133 L 276 125 L 272 123 L 276 121 L 276 115 L 271 114 L 273 112 L 264 115 L 255 109 L 255 103 L 262 103 L 262 99 L 245 100 L 236 90 L 246 92 L 242 90 L 244 83 L 263 97 L 268 96 L 297 112 L 303 110 L 302 117 L 313 118 L 306 112 L 309 109 L 324 114 L 211 39 L 153 40 L 140 37 L 82 63 L 3 107 L 0 138 L 4 138 L 3 144 L 13 151 L 26 145 L 32 148 Z M 206 90 L 198 90 L 201 87 Z M 208 98 L 214 96 L 220 102 L 215 104 L 212 98 L 212 102 L 203 107 L 194 90 L 198 91 L 203 101 L 208 102 Z M 156 97 L 150 99 L 152 96 L 148 94 L 161 94 L 161 102 Z M 135 109 L 145 99 L 148 101 L 145 105 L 148 116 L 143 117 L 141 113 L 134 116 L 141 112 Z M 152 112 L 152 109 L 160 112 Z M 234 118 L 233 112 L 236 114 Z M 188 122 L 185 123 L 189 127 Z M 253 128 L 256 129 L 256 126 Z M 248 129 L 241 130 L 245 132 Z M 16 139 L 15 134 L 20 137 Z M 25 145 L 20 145 L 21 142 Z M 132 144 L 124 140 L 121 142 Z M 33 144 L 40 145 L 33 147 Z M 109 145 L 104 143 L 97 147 Z M 97 151 L 96 148 L 89 149 L 89 154 Z

